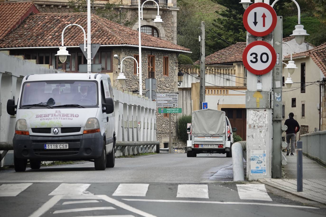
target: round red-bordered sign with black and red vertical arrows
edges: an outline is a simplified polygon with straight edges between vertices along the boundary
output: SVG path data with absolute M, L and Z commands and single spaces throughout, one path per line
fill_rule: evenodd
M 275 29 L 276 22 L 275 10 L 266 3 L 252 4 L 244 11 L 244 28 L 252 35 L 270 34 Z

